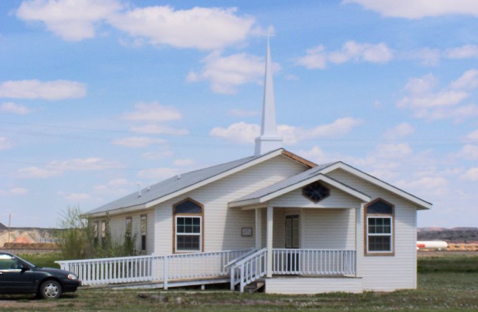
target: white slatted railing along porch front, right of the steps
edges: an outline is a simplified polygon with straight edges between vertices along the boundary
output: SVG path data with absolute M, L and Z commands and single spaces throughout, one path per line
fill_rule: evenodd
M 273 274 L 353 275 L 355 250 L 273 249 Z

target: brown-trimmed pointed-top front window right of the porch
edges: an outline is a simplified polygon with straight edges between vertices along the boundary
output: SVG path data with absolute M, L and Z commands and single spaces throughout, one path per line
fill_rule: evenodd
M 376 199 L 365 207 L 366 253 L 393 255 L 394 205 Z

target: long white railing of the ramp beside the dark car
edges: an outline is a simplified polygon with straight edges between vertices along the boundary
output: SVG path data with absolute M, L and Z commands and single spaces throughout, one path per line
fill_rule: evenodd
M 83 285 L 130 282 L 163 282 L 167 288 L 173 279 L 200 279 L 228 275 L 226 265 L 250 252 L 226 250 L 212 253 L 187 253 L 165 256 L 135 256 L 100 259 L 55 261 L 82 280 Z

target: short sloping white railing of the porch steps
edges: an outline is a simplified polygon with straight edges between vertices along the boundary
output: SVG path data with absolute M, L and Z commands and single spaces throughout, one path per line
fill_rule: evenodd
M 244 286 L 255 282 L 266 275 L 267 248 L 261 249 L 230 267 L 231 291 L 239 284 L 239 291 L 243 293 Z

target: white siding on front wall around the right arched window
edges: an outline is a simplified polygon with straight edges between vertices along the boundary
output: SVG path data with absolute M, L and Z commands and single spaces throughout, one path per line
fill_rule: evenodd
M 364 255 L 364 250 L 358 250 L 364 290 L 416 288 L 416 205 L 342 169 L 336 169 L 327 175 L 371 196 L 372 199 L 380 197 L 395 206 L 394 255 L 370 256 Z M 360 229 L 359 239 L 363 242 L 363 227 Z

